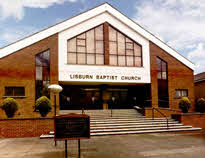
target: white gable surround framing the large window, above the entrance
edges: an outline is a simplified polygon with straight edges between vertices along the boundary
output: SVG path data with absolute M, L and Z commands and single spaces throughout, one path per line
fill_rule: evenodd
M 118 28 L 126 36 L 136 41 L 142 46 L 143 53 L 143 67 L 116 67 L 108 65 L 72 65 L 67 64 L 67 52 L 68 46 L 67 41 L 72 37 L 75 37 L 83 32 L 86 32 L 104 22 L 108 22 L 115 28 Z M 99 14 L 93 18 L 90 18 L 72 28 L 68 28 L 58 34 L 58 63 L 59 63 L 59 81 L 60 82 L 96 82 L 96 83 L 150 83 L 150 49 L 149 40 L 138 34 L 136 31 L 128 27 L 125 23 L 122 23 L 116 17 L 112 16 L 108 12 Z M 107 79 L 72 79 L 70 76 L 74 75 L 91 75 L 91 76 L 116 76 L 116 80 Z M 140 80 L 125 80 L 124 77 L 135 76 L 139 77 Z

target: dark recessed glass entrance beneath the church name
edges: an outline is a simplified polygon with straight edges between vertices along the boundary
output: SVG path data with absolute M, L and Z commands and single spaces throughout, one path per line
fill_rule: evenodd
M 149 85 L 64 85 L 60 93 L 61 110 L 84 109 L 129 109 L 132 106 L 147 106 Z

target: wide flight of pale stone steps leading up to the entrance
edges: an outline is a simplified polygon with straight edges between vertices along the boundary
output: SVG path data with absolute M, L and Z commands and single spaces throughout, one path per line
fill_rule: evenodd
M 74 113 L 75 111 L 67 112 Z M 81 110 L 76 112 L 82 113 Z M 91 136 L 197 131 L 201 129 L 184 126 L 171 118 L 168 118 L 169 128 L 167 128 L 167 120 L 165 118 L 145 118 L 134 109 L 115 109 L 113 112 L 113 117 L 111 117 L 110 110 L 85 111 L 85 114 L 90 115 Z M 48 138 L 53 138 L 54 132 L 51 131 L 47 136 Z M 46 138 L 46 135 L 42 135 L 41 138 Z

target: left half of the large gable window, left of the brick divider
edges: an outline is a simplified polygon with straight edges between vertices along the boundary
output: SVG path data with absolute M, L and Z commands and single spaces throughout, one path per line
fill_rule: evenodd
M 103 25 L 68 40 L 68 64 L 104 65 Z

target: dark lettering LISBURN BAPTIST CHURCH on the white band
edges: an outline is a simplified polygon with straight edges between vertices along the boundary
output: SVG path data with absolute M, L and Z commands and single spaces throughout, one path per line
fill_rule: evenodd
M 84 75 L 84 74 L 70 74 L 69 78 L 72 80 L 141 80 L 139 76 L 115 76 L 115 75 Z

